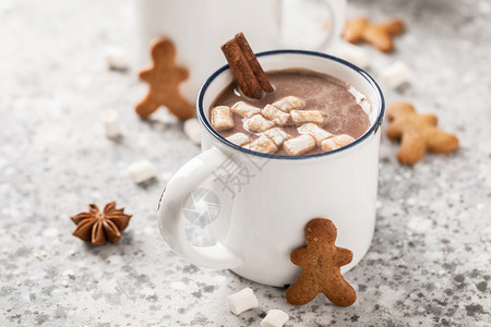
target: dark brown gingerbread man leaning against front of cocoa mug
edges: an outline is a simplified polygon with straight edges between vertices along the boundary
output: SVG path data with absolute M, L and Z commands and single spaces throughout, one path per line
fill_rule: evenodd
M 306 304 L 319 293 L 324 293 L 336 305 L 354 304 L 357 294 L 340 274 L 340 267 L 351 262 L 352 253 L 334 245 L 337 237 L 334 223 L 328 219 L 315 218 L 309 221 L 304 232 L 307 246 L 295 250 L 290 255 L 291 262 L 303 270 L 288 288 L 287 301 Z

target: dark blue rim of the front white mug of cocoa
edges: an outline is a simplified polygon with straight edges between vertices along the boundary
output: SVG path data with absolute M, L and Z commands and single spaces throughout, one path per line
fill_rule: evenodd
M 270 154 L 262 154 L 262 153 L 258 153 L 258 152 L 253 152 L 250 149 L 247 149 L 244 147 L 238 146 L 237 144 L 231 143 L 230 141 L 226 140 L 224 136 L 221 136 L 217 131 L 215 131 L 215 129 L 212 126 L 212 124 L 208 122 L 208 120 L 206 119 L 205 112 L 204 112 L 204 108 L 203 108 L 203 99 L 204 99 L 204 95 L 206 94 L 206 90 L 208 89 L 209 85 L 213 83 L 213 81 L 215 81 L 215 78 L 220 75 L 224 71 L 229 69 L 228 64 L 225 64 L 224 66 L 221 66 L 220 69 L 218 69 L 217 71 L 215 71 L 207 80 L 206 82 L 203 84 L 203 86 L 200 89 L 199 96 L 197 96 L 197 102 L 196 102 L 196 107 L 197 107 L 197 119 L 201 121 L 201 123 L 206 128 L 206 130 L 213 135 L 215 136 L 215 138 L 217 138 L 218 141 L 220 141 L 221 143 L 237 149 L 240 150 L 242 153 L 249 154 L 249 155 L 254 155 L 254 156 L 259 156 L 259 157 L 265 157 L 265 158 L 271 158 L 271 159 L 285 159 L 285 160 L 299 160 L 299 159 L 309 159 L 309 158 L 319 158 L 319 157 L 324 157 L 324 156 L 331 156 L 340 152 L 344 152 L 346 149 L 349 149 L 358 144 L 360 144 L 361 142 L 363 142 L 364 140 L 367 140 L 368 137 L 370 137 L 372 134 L 375 134 L 376 131 L 379 130 L 380 125 L 383 122 L 384 119 L 384 114 L 385 114 L 385 99 L 384 99 L 384 95 L 382 94 L 382 89 L 380 88 L 379 84 L 376 84 L 375 80 L 373 80 L 373 77 L 367 73 L 366 71 L 363 71 L 362 69 L 358 68 L 357 65 L 343 60 L 340 58 L 334 57 L 334 56 L 330 56 L 326 53 L 322 53 L 322 52 L 316 52 L 316 51 L 307 51 L 307 50 L 273 50 L 273 51 L 265 51 L 265 52 L 260 52 L 256 53 L 256 57 L 265 57 L 265 56 L 274 56 L 274 55 L 283 55 L 283 53 L 290 53 L 290 55 L 307 55 L 307 56 L 313 56 L 313 57 L 321 57 L 321 58 L 325 58 L 332 61 L 336 61 L 339 62 L 348 68 L 350 68 L 351 70 L 356 71 L 358 74 L 360 74 L 364 80 L 367 80 L 367 82 L 378 92 L 378 94 L 380 95 L 380 110 L 379 110 L 379 116 L 376 118 L 376 120 L 372 123 L 372 125 L 370 126 L 370 129 L 363 134 L 361 135 L 359 138 L 357 138 L 355 142 L 332 150 L 332 152 L 326 152 L 326 153 L 320 153 L 320 154 L 312 154 L 312 155 L 302 155 L 302 156 L 280 156 L 280 155 L 270 155 Z

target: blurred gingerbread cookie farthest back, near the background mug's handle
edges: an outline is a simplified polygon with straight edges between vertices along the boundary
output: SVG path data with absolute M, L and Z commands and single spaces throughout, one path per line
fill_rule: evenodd
M 372 24 L 366 17 L 360 17 L 346 23 L 343 36 L 348 43 L 366 41 L 382 52 L 392 52 L 394 50 L 393 37 L 403 32 L 404 23 L 399 20 Z

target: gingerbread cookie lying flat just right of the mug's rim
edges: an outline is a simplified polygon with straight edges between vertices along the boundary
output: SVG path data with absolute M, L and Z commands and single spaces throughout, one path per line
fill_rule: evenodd
M 387 136 L 400 140 L 397 159 L 405 165 L 418 162 L 427 150 L 446 154 L 458 147 L 458 138 L 436 128 L 434 114 L 419 114 L 408 102 L 396 102 L 388 107 Z

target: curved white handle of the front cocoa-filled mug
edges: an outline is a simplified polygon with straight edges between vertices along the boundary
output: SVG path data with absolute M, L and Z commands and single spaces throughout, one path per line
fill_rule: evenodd
M 184 198 L 218 168 L 227 156 L 211 148 L 189 160 L 167 183 L 160 198 L 158 225 L 167 244 L 193 264 L 213 269 L 239 267 L 242 259 L 220 243 L 195 246 L 185 237 Z

